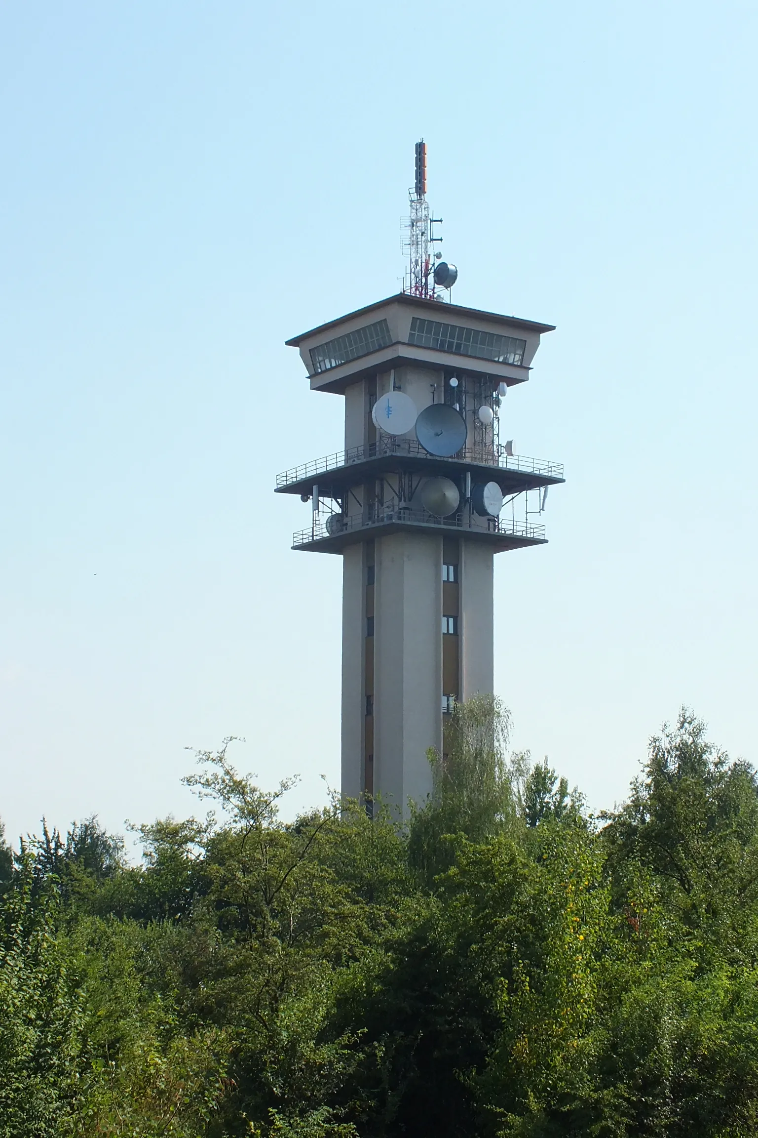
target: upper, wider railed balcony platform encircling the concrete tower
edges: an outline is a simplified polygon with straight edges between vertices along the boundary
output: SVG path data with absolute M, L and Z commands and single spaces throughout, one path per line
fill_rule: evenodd
M 470 473 L 474 480 L 495 481 L 505 496 L 564 481 L 561 463 L 509 455 L 502 446 L 463 447 L 451 459 L 428 454 L 416 440 L 381 435 L 376 443 L 338 451 L 277 475 L 277 494 L 310 494 L 318 484 L 320 497 L 340 497 L 350 486 L 397 471 L 423 475 Z

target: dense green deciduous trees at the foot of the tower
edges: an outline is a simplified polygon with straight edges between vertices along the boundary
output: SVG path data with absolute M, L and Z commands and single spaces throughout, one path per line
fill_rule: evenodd
M 6 835 L 0 1135 L 758 1133 L 755 770 L 682 710 L 591 816 L 507 736 L 457 708 L 403 824 L 282 820 L 228 741 L 140 865 Z

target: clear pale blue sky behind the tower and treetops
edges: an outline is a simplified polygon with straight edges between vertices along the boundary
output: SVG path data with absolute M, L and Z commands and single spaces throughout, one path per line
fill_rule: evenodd
M 414 143 L 455 299 L 555 323 L 563 461 L 495 569 L 513 743 L 620 800 L 683 702 L 758 760 L 756 49 L 720 0 L 0 6 L 0 816 L 192 809 L 241 735 L 339 783 L 339 558 L 276 473 L 339 450 L 289 336 L 399 288 Z

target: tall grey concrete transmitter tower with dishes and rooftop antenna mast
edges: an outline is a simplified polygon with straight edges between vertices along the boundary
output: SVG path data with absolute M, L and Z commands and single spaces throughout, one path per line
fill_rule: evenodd
M 544 543 L 564 480 L 500 437 L 552 325 L 451 303 L 423 141 L 409 198 L 402 291 L 288 340 L 344 396 L 344 451 L 276 480 L 311 503 L 293 549 L 342 554 L 342 793 L 399 811 L 431 791 L 455 702 L 493 690 L 493 555 Z

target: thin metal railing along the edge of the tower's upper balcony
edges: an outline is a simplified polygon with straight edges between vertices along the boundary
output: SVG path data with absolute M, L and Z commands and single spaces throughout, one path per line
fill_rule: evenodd
M 291 470 L 285 470 L 276 476 L 276 488 L 281 489 L 283 486 L 291 486 L 292 483 L 300 483 L 308 478 L 317 478 L 319 475 L 350 467 L 356 462 L 366 462 L 368 459 L 393 454 L 419 459 L 435 457 L 435 455 L 428 454 L 415 438 L 383 436 L 376 443 L 369 443 L 367 446 L 351 446 L 348 451 L 336 451 L 334 454 L 326 454 L 323 459 L 314 459 L 300 467 L 292 467 Z M 452 455 L 451 461 L 499 467 L 501 470 L 515 470 L 522 475 L 542 475 L 545 478 L 564 477 L 563 463 L 548 462 L 545 459 L 527 459 L 520 454 L 506 454 L 502 446 L 498 447 L 497 451 L 493 447 L 465 446 Z

